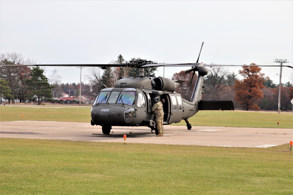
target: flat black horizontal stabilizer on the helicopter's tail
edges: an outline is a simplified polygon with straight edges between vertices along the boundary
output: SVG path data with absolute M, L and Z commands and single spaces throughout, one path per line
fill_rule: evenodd
M 234 110 L 233 101 L 227 100 L 201 100 L 199 101 L 200 110 Z

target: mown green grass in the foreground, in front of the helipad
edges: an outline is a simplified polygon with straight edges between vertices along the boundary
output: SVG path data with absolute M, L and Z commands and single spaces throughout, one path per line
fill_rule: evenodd
M 289 144 L 0 143 L 0 194 L 293 194 Z

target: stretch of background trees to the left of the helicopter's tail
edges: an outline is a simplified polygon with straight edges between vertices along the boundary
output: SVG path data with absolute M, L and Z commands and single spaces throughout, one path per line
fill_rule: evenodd
M 132 61 L 141 58 L 132 58 Z M 110 61 L 109 64 L 125 63 L 120 54 L 117 60 Z M 134 68 L 130 67 L 108 67 L 104 71 L 98 67 L 91 67 L 86 75 L 89 84 L 61 83 L 61 77 L 55 69 L 48 77 L 45 76 L 45 67 L 35 66 L 17 66 L 25 64 L 38 64 L 31 59 L 25 60 L 22 54 L 6 53 L 0 56 L 0 101 L 2 97 L 8 102 L 15 103 L 16 99 L 20 102 L 53 101 L 53 98 L 62 97 L 63 93 L 69 96 L 79 96 L 81 90 L 82 96 L 95 97 L 97 93 L 106 87 L 113 87 L 114 83 L 120 77 L 130 77 L 138 75 Z M 15 66 L 1 66 L 15 65 Z M 149 74 L 154 74 L 156 67 L 149 69 Z M 137 70 L 138 72 L 138 70 Z M 145 73 L 146 74 L 146 73 Z M 2 102 L 1 102 L 2 103 Z

